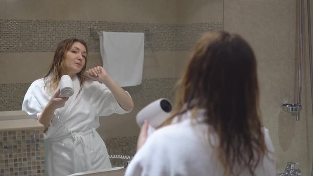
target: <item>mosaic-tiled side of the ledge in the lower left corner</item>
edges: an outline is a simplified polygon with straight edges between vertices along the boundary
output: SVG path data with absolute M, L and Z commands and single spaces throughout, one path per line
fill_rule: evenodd
M 43 130 L 0 131 L 0 176 L 45 176 Z

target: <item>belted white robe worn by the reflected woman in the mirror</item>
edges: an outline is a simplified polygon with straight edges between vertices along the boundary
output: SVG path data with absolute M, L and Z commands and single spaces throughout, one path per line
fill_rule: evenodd
M 55 111 L 56 115 L 45 132 L 45 137 L 50 137 L 46 159 L 49 176 L 111 168 L 106 145 L 95 131 L 100 126 L 99 116 L 129 112 L 119 106 L 104 84 L 86 81 L 78 96 L 80 85 L 77 77 L 73 78 L 73 86 L 75 93 L 64 107 Z M 44 79 L 36 80 L 25 94 L 22 110 L 38 116 L 51 96 L 45 91 Z

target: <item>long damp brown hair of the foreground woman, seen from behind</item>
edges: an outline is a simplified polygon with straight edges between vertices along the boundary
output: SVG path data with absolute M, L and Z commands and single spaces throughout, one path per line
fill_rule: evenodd
M 216 149 L 224 175 L 237 176 L 248 168 L 254 176 L 267 148 L 259 116 L 256 59 L 239 35 L 209 32 L 202 36 L 179 81 L 176 106 L 164 125 L 197 109 L 205 110 L 209 133 L 219 137 Z

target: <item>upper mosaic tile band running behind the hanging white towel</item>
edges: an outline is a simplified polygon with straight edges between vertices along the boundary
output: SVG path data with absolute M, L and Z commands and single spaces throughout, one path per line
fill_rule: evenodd
M 66 38 L 87 42 L 99 52 L 97 31 L 144 32 L 146 51 L 186 51 L 206 31 L 223 30 L 223 22 L 155 24 L 105 21 L 0 20 L 0 52 L 54 52 Z

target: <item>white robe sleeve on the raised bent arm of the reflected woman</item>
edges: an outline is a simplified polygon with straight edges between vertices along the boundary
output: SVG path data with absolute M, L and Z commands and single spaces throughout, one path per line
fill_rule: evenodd
M 124 114 L 131 111 L 124 110 L 118 104 L 111 90 L 104 84 L 100 84 L 98 82 L 94 82 L 94 84 L 96 84 L 97 92 L 94 95 L 95 99 L 93 103 L 98 106 L 98 108 L 96 108 L 97 116 L 107 116 L 111 115 L 112 113 Z M 125 92 L 130 96 L 127 91 Z

